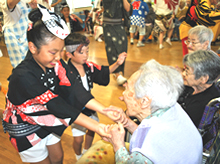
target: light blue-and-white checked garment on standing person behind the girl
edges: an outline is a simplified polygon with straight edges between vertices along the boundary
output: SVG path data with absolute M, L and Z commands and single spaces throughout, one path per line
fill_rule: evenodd
M 4 29 L 5 43 L 8 50 L 11 65 L 15 68 L 26 56 L 28 50 L 27 29 L 28 13 L 30 8 L 26 4 L 18 3 L 16 8 L 21 9 L 20 19 L 13 26 Z M 12 11 L 13 12 L 13 11 Z

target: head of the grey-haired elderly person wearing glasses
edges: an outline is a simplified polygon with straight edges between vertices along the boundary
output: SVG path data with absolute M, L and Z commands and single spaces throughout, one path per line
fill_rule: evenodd
M 203 25 L 191 28 L 188 32 L 188 40 L 185 41 L 188 53 L 197 50 L 211 50 L 212 39 L 213 32 L 210 28 Z

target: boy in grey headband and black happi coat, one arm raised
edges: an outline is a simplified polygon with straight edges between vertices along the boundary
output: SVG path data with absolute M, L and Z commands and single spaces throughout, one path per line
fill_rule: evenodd
M 79 33 L 71 33 L 65 39 L 67 57 L 69 58 L 68 65 L 70 70 L 76 74 L 76 80 L 83 84 L 85 89 L 91 92 L 93 83 L 99 85 L 108 85 L 109 74 L 112 73 L 119 65 L 121 65 L 127 54 L 121 53 L 117 61 L 111 66 L 100 66 L 93 62 L 87 61 L 89 52 L 89 39 Z M 84 108 L 83 106 L 81 108 Z M 85 108 L 83 113 L 96 121 L 99 121 L 95 111 Z M 74 136 L 73 149 L 76 153 L 76 158 L 79 159 L 83 153 L 91 146 L 94 132 L 82 126 L 72 124 L 72 133 Z M 87 132 L 86 132 L 87 131 Z M 85 136 L 85 145 L 82 150 L 82 143 Z

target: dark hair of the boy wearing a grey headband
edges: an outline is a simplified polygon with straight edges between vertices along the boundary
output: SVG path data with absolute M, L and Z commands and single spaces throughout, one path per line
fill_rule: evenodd
M 76 32 L 70 33 L 65 39 L 66 46 L 81 44 L 82 45 L 81 48 L 82 48 L 83 46 L 88 46 L 89 43 L 90 43 L 90 41 L 86 36 L 84 36 L 80 33 L 76 33 Z M 81 50 L 79 50 L 79 51 L 81 51 Z M 71 52 L 71 53 L 73 54 L 74 52 Z

